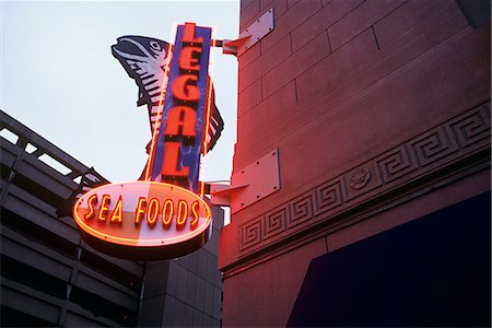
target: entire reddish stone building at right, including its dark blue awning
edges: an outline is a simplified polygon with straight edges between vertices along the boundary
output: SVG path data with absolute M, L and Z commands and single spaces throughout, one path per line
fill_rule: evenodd
M 471 2 L 242 1 L 241 32 L 271 8 L 274 28 L 238 57 L 232 176 L 278 152 L 281 187 L 222 231 L 225 327 L 490 325 L 490 1 Z

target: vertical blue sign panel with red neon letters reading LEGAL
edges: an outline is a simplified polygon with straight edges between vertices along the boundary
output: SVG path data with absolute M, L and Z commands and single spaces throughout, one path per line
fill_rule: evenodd
M 178 25 L 159 134 L 152 145 L 149 180 L 198 191 L 203 128 L 210 106 L 210 27 Z

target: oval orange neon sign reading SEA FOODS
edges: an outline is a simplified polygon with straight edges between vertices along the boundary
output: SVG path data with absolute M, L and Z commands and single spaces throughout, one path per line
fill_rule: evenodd
M 83 195 L 73 218 L 84 239 L 109 255 L 169 259 L 200 248 L 211 235 L 211 210 L 198 195 L 169 184 L 104 185 Z

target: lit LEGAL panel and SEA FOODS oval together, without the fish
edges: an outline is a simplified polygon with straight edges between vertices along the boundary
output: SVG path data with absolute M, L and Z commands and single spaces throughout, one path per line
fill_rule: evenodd
M 144 180 L 107 184 L 83 195 L 73 218 L 84 239 L 118 257 L 157 260 L 200 248 L 212 232 L 198 195 L 200 156 L 209 150 L 211 28 L 178 25 L 167 48 Z

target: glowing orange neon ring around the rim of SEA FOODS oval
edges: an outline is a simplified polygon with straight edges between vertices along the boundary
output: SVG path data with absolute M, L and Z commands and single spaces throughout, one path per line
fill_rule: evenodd
M 171 190 L 177 189 L 177 190 L 184 191 L 185 194 L 189 194 L 190 196 L 195 197 L 197 199 L 197 201 L 201 202 L 204 207 L 204 211 L 206 211 L 207 215 L 201 216 L 204 219 L 203 224 L 201 224 L 196 231 L 187 232 L 186 234 L 183 234 L 180 236 L 175 236 L 175 237 L 169 237 L 169 238 L 160 238 L 160 239 L 134 239 L 134 238 L 117 237 L 117 236 L 113 236 L 113 235 L 108 235 L 106 233 L 99 232 L 99 231 L 89 226 L 87 224 L 85 224 L 85 222 L 82 220 L 82 218 L 79 216 L 79 213 L 78 213 L 78 209 L 80 208 L 82 201 L 86 198 L 85 196 L 89 196 L 90 194 L 97 194 L 101 189 L 108 188 L 108 187 L 110 188 L 113 186 L 122 185 L 122 184 L 127 184 L 127 185 L 130 185 L 130 184 L 160 185 L 162 187 L 171 188 Z M 165 184 L 165 183 L 157 183 L 157 181 L 128 181 L 128 183 L 118 183 L 118 184 L 107 184 L 104 186 L 96 187 L 96 188 L 92 189 L 91 191 L 89 191 L 87 194 L 83 195 L 75 202 L 75 206 L 73 207 L 73 219 L 75 220 L 75 223 L 77 223 L 77 225 L 79 225 L 80 229 L 82 229 L 83 231 L 85 231 L 86 233 L 91 234 L 92 236 L 94 236 L 98 239 L 109 242 L 109 243 L 120 244 L 120 245 L 139 246 L 139 247 L 140 246 L 155 247 L 155 246 L 172 245 L 172 244 L 177 244 L 180 242 L 186 242 L 186 241 L 201 234 L 204 230 L 207 230 L 209 227 L 209 225 L 212 222 L 210 207 L 207 204 L 207 202 L 203 199 L 199 198 L 198 195 L 196 195 L 195 192 L 192 192 L 188 189 L 179 187 L 179 186 Z

